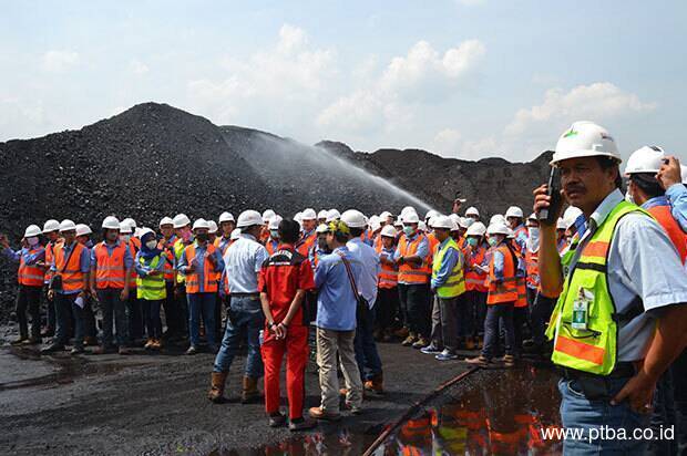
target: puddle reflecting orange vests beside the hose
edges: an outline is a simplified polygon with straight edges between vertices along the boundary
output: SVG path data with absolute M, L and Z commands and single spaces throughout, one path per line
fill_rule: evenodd
M 556 383 L 550 367 L 478 371 L 419 410 L 375 455 L 560 454 L 561 442 L 542 438 L 543 429 L 561 425 Z M 320 429 L 276 445 L 212 455 L 360 455 L 383 431 Z

